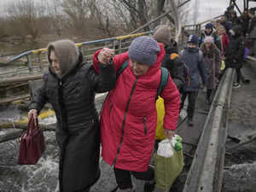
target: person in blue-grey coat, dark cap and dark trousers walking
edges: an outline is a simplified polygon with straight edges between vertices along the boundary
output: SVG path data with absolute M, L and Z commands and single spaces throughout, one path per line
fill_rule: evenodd
M 189 96 L 189 106 L 187 109 L 189 126 L 194 125 L 193 117 L 195 112 L 195 102 L 200 88 L 200 79 L 202 79 L 203 85 L 207 83 L 207 72 L 203 54 L 197 45 L 197 36 L 195 34 L 190 35 L 188 46 L 179 53 L 181 60 L 189 67 L 190 82 L 184 86 L 181 103 L 182 109 L 187 96 Z

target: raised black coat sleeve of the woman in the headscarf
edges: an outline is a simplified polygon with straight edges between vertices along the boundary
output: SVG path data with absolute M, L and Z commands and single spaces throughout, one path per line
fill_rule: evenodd
M 97 67 L 98 73 L 96 73 L 96 70 L 93 67 L 90 67 L 88 74 L 92 89 L 97 93 L 113 90 L 116 81 L 113 61 L 110 61 L 107 65 L 98 63 Z

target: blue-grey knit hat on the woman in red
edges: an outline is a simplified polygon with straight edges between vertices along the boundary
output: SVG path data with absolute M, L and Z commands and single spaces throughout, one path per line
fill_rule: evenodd
M 129 47 L 129 58 L 148 66 L 153 66 L 160 47 L 154 38 L 142 36 L 135 38 Z

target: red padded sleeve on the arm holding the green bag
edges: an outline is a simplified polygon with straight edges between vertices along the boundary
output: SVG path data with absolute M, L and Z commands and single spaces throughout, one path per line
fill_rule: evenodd
M 161 97 L 164 99 L 166 111 L 164 117 L 164 128 L 168 130 L 176 130 L 180 108 L 180 94 L 171 77 L 169 77 L 168 82 L 162 91 Z

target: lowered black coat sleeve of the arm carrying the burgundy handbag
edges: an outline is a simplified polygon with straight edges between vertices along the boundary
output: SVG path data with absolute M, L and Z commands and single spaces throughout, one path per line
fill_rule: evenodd
M 44 104 L 48 102 L 48 97 L 46 96 L 46 82 L 48 79 L 48 73 L 44 74 L 43 84 L 36 90 L 32 101 L 28 105 L 28 110 L 37 109 L 38 114 L 44 108 Z

